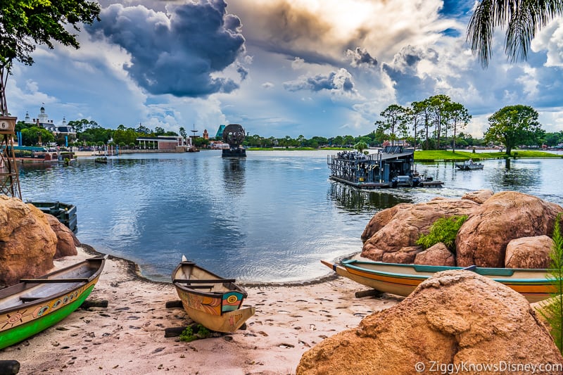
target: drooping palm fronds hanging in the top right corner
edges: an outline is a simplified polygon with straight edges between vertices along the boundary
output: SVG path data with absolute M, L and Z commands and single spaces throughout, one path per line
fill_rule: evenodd
M 536 32 L 562 14 L 563 0 L 481 0 L 469 20 L 467 41 L 486 68 L 495 27 L 506 26 L 505 53 L 512 62 L 526 60 Z

